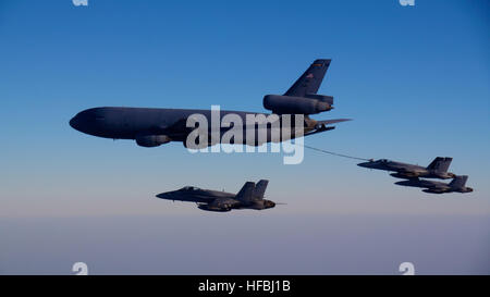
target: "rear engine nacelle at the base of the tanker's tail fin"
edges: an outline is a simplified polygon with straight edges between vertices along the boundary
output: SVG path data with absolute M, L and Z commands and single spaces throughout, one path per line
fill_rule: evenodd
M 266 95 L 264 97 L 264 108 L 274 113 L 315 114 L 329 111 L 332 109 L 332 106 L 318 99 L 305 97 Z

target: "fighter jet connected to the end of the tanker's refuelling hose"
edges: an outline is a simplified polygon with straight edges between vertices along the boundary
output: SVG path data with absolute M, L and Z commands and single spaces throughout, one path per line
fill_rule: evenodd
M 397 178 L 426 177 L 446 180 L 456 176 L 454 173 L 448 172 L 452 160 L 453 158 L 450 157 L 437 157 L 427 168 L 390 161 L 387 159 L 371 160 L 357 165 L 368 169 L 394 171 L 395 173 L 390 175 Z

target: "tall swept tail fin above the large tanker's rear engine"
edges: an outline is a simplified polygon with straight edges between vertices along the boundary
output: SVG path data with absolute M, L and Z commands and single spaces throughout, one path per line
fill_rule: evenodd
M 317 94 L 323 76 L 330 65 L 330 59 L 318 59 L 291 86 L 284 96 L 305 97 L 307 94 Z

